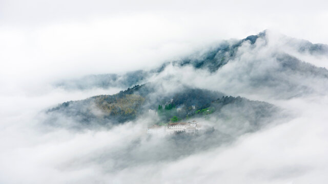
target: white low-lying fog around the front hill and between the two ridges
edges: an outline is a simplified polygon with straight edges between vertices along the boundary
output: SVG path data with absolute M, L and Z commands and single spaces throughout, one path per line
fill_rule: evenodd
M 267 41 L 245 42 L 237 57 L 214 73 L 169 64 L 145 81 L 158 83 L 156 95 L 187 85 L 270 102 L 288 114 L 270 117 L 267 126 L 256 131 L 245 131 L 249 122 L 238 117 L 252 112 L 247 106 L 223 108 L 222 114 L 230 114 L 231 121 L 199 119 L 219 132 L 208 128 L 195 137 L 148 136 L 147 127 L 156 117 L 146 114 L 111 128 L 71 130 L 48 126 L 45 110 L 124 88 L 70 90 L 47 79 L 43 82 L 47 85 L 36 85 L 42 91 L 39 93 L 17 86 L 1 90 L 0 182 L 324 183 L 328 169 L 324 132 L 327 78 L 321 73 L 281 70 L 276 56 L 279 51 L 288 51 L 317 66 L 324 66 L 321 59 L 325 56 L 277 46 L 279 42 L 270 35 Z M 63 125 L 79 123 L 74 117 L 59 118 Z

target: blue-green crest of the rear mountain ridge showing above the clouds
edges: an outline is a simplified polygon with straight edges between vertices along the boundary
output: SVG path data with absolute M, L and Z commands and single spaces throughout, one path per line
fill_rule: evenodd
M 108 87 L 121 87 L 128 88 L 134 85 L 141 85 L 147 83 L 148 79 L 152 76 L 157 76 L 161 74 L 169 65 L 177 67 L 192 66 L 195 70 L 202 69 L 208 70 L 211 73 L 216 73 L 219 68 L 222 68 L 224 65 L 229 63 L 232 60 L 238 59 L 236 53 L 239 51 L 242 44 L 249 42 L 251 47 L 254 48 L 257 40 L 261 38 L 268 42 L 267 30 L 260 32 L 257 35 L 251 35 L 241 40 L 235 41 L 222 41 L 218 45 L 203 54 L 195 53 L 191 56 L 182 57 L 180 60 L 165 62 L 157 68 L 154 68 L 150 71 L 138 70 L 128 72 L 126 74 L 102 74 L 102 75 L 91 75 L 85 76 L 80 79 L 67 80 L 57 82 L 54 85 L 56 87 L 62 87 L 67 90 L 74 89 L 90 89 L 90 88 L 108 88 Z M 270 40 L 269 40 L 270 41 Z M 289 45 L 289 47 L 294 48 L 300 53 L 310 53 L 310 54 L 319 54 L 328 57 L 328 45 L 316 43 L 313 44 L 310 41 L 300 40 L 295 38 L 285 38 L 283 45 Z M 267 43 L 261 47 L 266 47 Z M 296 46 L 297 45 L 297 46 Z M 196 55 L 196 56 L 194 56 Z M 238 56 L 240 57 L 240 56 Z M 308 68 L 311 71 L 316 71 L 318 76 L 326 78 L 328 71 L 326 68 L 317 67 L 313 64 L 306 63 L 296 56 L 293 56 L 285 52 L 273 52 L 272 57 L 281 63 L 293 63 L 297 68 L 293 68 L 294 71 L 298 70 L 299 73 L 308 72 L 305 69 Z M 290 61 L 288 61 L 290 59 Z M 289 66 L 290 64 L 283 64 L 281 70 L 284 66 Z M 310 66 L 312 65 L 312 66 Z M 305 69 L 304 69 L 305 68 Z M 320 68 L 320 69 L 318 69 Z M 310 73 L 311 73 L 310 71 Z M 308 72 L 309 73 L 309 72 Z

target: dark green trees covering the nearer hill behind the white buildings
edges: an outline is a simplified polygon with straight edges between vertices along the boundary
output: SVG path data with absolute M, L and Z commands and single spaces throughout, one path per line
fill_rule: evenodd
M 152 84 L 136 85 L 115 95 L 99 95 L 86 100 L 65 102 L 48 110 L 48 113 L 61 113 L 67 117 L 74 117 L 77 122 L 86 125 L 96 123 L 107 126 L 108 123 L 116 124 L 134 120 L 148 109 L 157 108 L 159 117 L 157 123 L 165 124 L 194 116 L 211 116 L 211 114 L 220 113 L 221 108 L 231 104 L 238 106 L 253 103 L 240 97 L 218 98 L 223 94 L 188 87 L 183 87 L 178 93 L 157 97 L 155 100 L 149 98 L 154 94 L 156 91 Z M 166 105 L 163 107 L 161 103 L 166 103 Z M 179 109 L 177 110 L 176 107 Z M 94 113 L 95 108 L 101 113 Z

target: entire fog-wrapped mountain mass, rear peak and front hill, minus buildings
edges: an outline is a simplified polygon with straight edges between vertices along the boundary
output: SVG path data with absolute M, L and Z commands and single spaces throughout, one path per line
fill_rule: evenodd
M 273 39 L 264 31 L 241 40 L 222 41 L 150 71 L 61 81 L 55 85 L 66 90 L 125 90 L 61 103 L 47 110 L 45 124 L 73 131 L 120 131 L 124 127 L 133 132 L 131 135 L 137 135 L 133 141 L 94 153 L 95 162 L 101 158 L 99 162 L 113 166 L 111 172 L 170 162 L 293 118 L 273 99 L 309 94 L 320 97 L 327 90 L 324 84 L 328 71 L 303 58 L 325 58 L 327 53 L 327 45 L 289 37 Z M 271 99 L 271 103 L 265 99 Z M 147 126 L 153 124 L 167 126 L 194 120 L 202 129 L 193 136 L 182 133 L 158 138 L 146 133 Z M 133 162 L 127 165 L 127 158 Z

